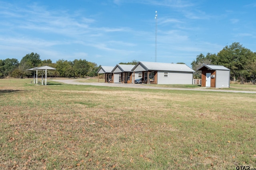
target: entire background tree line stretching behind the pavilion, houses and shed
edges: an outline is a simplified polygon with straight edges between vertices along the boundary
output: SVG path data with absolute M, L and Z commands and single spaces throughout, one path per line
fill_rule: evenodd
M 133 60 L 129 63 L 120 64 L 136 64 L 138 61 Z M 234 42 L 227 45 L 217 54 L 207 53 L 206 56 L 200 53 L 196 56 L 196 60 L 192 61 L 193 70 L 197 70 L 203 64 L 223 65 L 230 69 L 230 80 L 256 82 L 256 52 L 243 47 L 240 43 Z M 41 60 L 37 53 L 25 55 L 19 62 L 17 59 L 0 60 L 0 78 L 14 77 L 30 77 L 32 72 L 29 68 L 39 66 L 51 66 L 56 70 L 49 70 L 47 76 L 50 77 L 84 77 L 96 76 L 96 72 L 100 66 L 82 59 L 67 61 L 60 59 L 56 63 L 52 63 L 50 59 Z M 201 78 L 201 71 L 194 73 L 194 78 Z

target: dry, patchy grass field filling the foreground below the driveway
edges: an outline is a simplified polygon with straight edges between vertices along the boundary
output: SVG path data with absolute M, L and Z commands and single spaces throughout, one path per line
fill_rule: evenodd
M 255 104 L 218 90 L 0 79 L 0 169 L 256 168 Z

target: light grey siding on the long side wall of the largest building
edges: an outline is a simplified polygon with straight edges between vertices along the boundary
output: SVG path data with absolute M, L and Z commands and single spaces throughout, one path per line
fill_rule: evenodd
M 164 77 L 164 72 L 168 72 L 168 77 Z M 158 71 L 157 84 L 193 84 L 193 73 Z

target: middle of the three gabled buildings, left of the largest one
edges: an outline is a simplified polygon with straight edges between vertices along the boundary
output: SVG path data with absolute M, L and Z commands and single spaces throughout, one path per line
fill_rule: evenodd
M 134 83 L 135 73 L 132 72 L 134 66 L 130 64 L 116 64 L 112 69 L 114 83 Z

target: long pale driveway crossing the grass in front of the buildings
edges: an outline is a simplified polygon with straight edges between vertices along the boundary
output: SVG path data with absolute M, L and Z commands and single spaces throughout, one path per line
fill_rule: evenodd
M 130 84 L 130 83 L 86 83 L 79 82 L 74 79 L 66 80 L 51 80 L 54 82 L 61 82 L 65 84 L 76 84 L 76 85 L 91 85 L 91 86 L 110 86 L 110 87 L 125 87 L 125 88 L 148 88 L 148 89 L 165 89 L 165 90 L 192 90 L 192 91 L 206 91 L 206 92 L 232 92 L 232 93 L 253 93 L 253 91 L 236 91 L 236 90 L 225 90 L 225 89 L 210 89 L 210 88 L 167 88 L 167 87 L 155 87 L 146 86 L 144 84 Z

